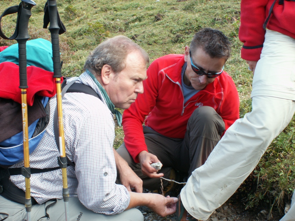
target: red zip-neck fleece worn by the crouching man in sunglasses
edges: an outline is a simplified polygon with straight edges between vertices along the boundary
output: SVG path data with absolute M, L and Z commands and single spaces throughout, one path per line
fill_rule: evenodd
M 171 138 L 184 138 L 186 125 L 199 106 L 210 106 L 222 117 L 225 129 L 239 118 L 239 96 L 230 75 L 223 72 L 186 103 L 181 89 L 184 55 L 165 55 L 147 70 L 144 93 L 123 113 L 124 142 L 135 162 L 147 151 L 142 123 Z M 147 116 L 147 117 L 146 117 Z

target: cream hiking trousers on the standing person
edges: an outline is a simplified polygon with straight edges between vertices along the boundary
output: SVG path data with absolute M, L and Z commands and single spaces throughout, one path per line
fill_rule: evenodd
M 266 31 L 251 97 L 252 111 L 226 131 L 181 191 L 184 207 L 196 219 L 207 220 L 230 198 L 291 121 L 295 112 L 295 39 Z M 291 220 L 295 220 L 294 202 L 281 219 Z

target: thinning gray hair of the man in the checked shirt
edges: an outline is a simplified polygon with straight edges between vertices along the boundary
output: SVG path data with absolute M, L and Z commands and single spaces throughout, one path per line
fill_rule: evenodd
M 88 69 L 92 74 L 101 75 L 101 69 L 104 65 L 110 65 L 117 74 L 126 67 L 126 57 L 130 52 L 139 51 L 146 61 L 150 60 L 147 52 L 131 39 L 118 35 L 101 42 L 86 59 L 84 70 Z

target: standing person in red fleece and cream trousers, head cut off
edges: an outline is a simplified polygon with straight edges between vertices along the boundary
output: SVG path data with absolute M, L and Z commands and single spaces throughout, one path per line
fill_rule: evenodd
M 295 111 L 294 19 L 294 0 L 241 1 L 241 56 L 254 73 L 252 111 L 226 131 L 206 163 L 193 171 L 180 194 L 178 221 L 186 217 L 207 220 L 291 121 Z M 281 221 L 295 220 L 294 196 Z

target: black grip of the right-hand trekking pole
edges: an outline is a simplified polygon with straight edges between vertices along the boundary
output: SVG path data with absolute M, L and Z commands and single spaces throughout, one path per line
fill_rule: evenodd
M 60 48 L 59 48 L 59 25 L 58 25 L 58 11 L 56 6 L 56 0 L 48 0 L 49 20 L 50 26 L 49 31 L 51 33 L 52 43 L 52 60 L 53 60 L 53 77 L 62 77 L 61 65 L 60 65 Z

